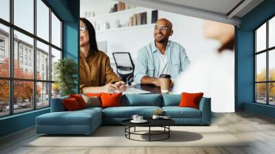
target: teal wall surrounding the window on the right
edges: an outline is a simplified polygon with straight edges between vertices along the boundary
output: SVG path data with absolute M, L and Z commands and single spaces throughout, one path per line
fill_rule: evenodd
M 270 117 L 275 115 L 274 107 L 254 103 L 254 30 L 274 15 L 275 0 L 265 0 L 241 19 L 241 25 L 236 30 L 236 110 Z

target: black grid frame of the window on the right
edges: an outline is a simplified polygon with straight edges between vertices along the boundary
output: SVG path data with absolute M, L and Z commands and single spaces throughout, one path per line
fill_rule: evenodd
M 269 105 L 269 106 L 275 106 L 275 104 L 270 104 L 270 83 L 275 83 L 275 80 L 270 80 L 270 57 L 269 57 L 269 54 L 270 52 L 272 52 L 272 50 L 275 50 L 275 46 L 273 47 L 269 47 L 269 42 L 270 42 L 270 38 L 269 38 L 269 21 L 271 19 L 275 18 L 275 14 L 273 14 L 271 17 L 269 17 L 268 19 L 266 19 L 263 23 L 261 23 L 257 28 L 255 28 L 253 30 L 254 32 L 254 103 L 256 104 L 264 104 L 264 103 L 261 103 L 261 102 L 257 102 L 257 91 L 256 91 L 256 84 L 257 83 L 265 83 L 265 105 Z M 261 50 L 259 52 L 256 51 L 256 30 L 259 30 L 259 28 L 261 28 L 262 25 L 266 24 L 266 44 L 265 44 L 265 50 Z M 256 64 L 257 64 L 257 61 L 256 61 L 256 56 L 259 55 L 259 54 L 263 54 L 265 53 L 265 67 L 266 67 L 266 71 L 265 71 L 265 81 L 256 81 Z

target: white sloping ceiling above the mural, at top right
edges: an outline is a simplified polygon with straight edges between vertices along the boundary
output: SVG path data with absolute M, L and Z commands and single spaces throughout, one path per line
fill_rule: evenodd
M 190 17 L 239 25 L 263 0 L 116 0 Z M 238 5 L 239 4 L 239 5 Z M 235 7 L 237 6 L 237 7 Z

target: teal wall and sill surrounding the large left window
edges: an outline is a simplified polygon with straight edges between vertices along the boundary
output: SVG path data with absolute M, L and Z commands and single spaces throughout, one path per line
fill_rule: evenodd
M 63 57 L 74 58 L 78 64 L 80 0 L 45 0 L 45 2 L 63 21 Z M 78 87 L 75 88 L 76 91 Z M 0 118 L 0 137 L 33 126 L 36 116 L 49 112 L 50 108 L 47 108 Z

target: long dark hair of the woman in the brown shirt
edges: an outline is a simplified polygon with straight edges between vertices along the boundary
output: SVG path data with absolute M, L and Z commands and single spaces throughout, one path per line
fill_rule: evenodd
M 91 24 L 90 21 L 85 18 L 80 18 L 80 21 L 83 21 L 83 23 L 85 23 L 88 30 L 91 51 L 98 52 L 98 43 L 96 43 L 96 30 L 94 29 L 94 26 Z

